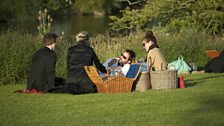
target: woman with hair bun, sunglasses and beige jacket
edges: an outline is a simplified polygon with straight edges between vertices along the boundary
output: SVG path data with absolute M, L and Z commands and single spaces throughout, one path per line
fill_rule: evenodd
M 146 31 L 145 36 L 142 40 L 142 46 L 147 55 L 147 66 L 148 70 L 166 70 L 167 61 L 160 50 L 156 37 L 153 35 L 152 31 Z

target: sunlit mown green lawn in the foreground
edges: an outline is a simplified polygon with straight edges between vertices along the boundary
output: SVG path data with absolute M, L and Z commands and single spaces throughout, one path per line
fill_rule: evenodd
M 184 76 L 185 89 L 126 94 L 18 94 L 0 87 L 0 125 L 223 126 L 224 74 Z

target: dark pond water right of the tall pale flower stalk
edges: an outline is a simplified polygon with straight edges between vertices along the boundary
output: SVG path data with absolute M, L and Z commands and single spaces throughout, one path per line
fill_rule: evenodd
M 53 31 L 55 33 L 76 34 L 81 30 L 86 30 L 89 33 L 105 33 L 108 26 L 107 17 L 93 17 L 93 16 L 61 16 L 56 17 L 53 24 Z

